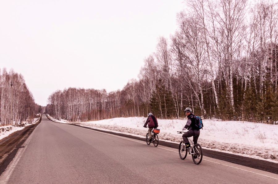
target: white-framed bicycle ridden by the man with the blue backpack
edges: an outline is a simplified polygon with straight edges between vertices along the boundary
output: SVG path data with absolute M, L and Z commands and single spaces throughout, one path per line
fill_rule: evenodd
M 178 131 L 178 132 L 179 132 L 178 134 L 185 133 L 185 132 L 182 132 L 182 131 Z M 188 138 L 188 140 L 191 142 L 191 145 L 190 145 L 189 148 L 185 148 L 185 142 L 184 141 L 181 141 L 179 143 L 179 157 L 184 160 L 187 156 L 187 150 L 188 150 L 189 154 L 192 155 L 193 162 L 195 164 L 200 164 L 202 162 L 202 159 L 203 159 L 202 147 L 198 143 L 194 144 L 193 141 L 190 138 Z

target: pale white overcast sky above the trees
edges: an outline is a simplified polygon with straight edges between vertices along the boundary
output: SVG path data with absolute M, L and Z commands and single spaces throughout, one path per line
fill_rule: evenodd
M 122 90 L 184 8 L 182 0 L 1 1 L 0 68 L 21 73 L 42 106 L 68 87 Z

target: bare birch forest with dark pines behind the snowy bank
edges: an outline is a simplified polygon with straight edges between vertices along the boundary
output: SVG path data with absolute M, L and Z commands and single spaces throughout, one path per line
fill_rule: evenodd
M 170 119 L 184 118 L 183 110 L 191 107 L 204 118 L 277 123 L 277 4 L 273 0 L 185 4 L 186 9 L 177 13 L 175 34 L 158 38 L 154 53 L 142 58 L 137 79 L 109 93 L 58 90 L 48 98 L 47 113 L 72 122 L 146 117 L 149 112 Z M 8 102 L 7 85 L 5 89 Z M 17 108 L 16 118 L 26 118 L 26 103 Z M 1 113 L 1 120 L 5 118 Z

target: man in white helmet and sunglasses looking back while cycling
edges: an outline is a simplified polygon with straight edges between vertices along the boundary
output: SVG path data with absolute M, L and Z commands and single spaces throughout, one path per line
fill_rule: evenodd
M 192 110 L 189 107 L 187 107 L 187 108 L 185 108 L 184 112 L 185 112 L 185 115 L 187 115 L 188 119 L 187 119 L 186 125 L 184 126 L 183 130 L 188 129 L 188 131 L 183 134 L 183 141 L 186 146 L 185 148 L 189 148 L 190 143 L 189 143 L 188 137 L 193 136 L 193 142 L 194 142 L 194 144 L 196 144 L 198 141 L 199 135 L 200 135 L 200 130 L 194 130 L 191 126 L 191 125 L 193 125 L 193 123 L 195 123 L 195 118 L 194 118 L 194 114 L 192 113 Z

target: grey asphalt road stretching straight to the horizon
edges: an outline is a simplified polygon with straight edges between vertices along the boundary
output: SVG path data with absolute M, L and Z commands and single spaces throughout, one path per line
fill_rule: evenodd
M 0 183 L 277 183 L 278 174 L 68 124 L 45 115 Z

